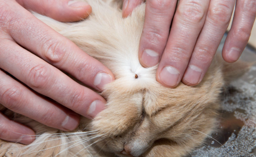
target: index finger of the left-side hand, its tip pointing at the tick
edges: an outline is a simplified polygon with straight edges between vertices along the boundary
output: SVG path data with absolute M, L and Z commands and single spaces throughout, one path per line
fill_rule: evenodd
M 22 18 L 23 22 L 13 19 L 12 21 L 15 22 L 9 28 L 10 35 L 40 58 L 97 90 L 101 90 L 104 85 L 114 80 L 112 72 L 102 63 L 90 57 L 72 41 L 46 26 L 25 9 L 13 18 Z

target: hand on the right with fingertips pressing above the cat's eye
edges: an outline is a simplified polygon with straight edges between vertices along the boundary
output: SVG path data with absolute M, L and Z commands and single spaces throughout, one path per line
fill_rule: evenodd
M 142 1 L 124 0 L 123 17 Z M 209 68 L 235 3 L 222 56 L 229 63 L 241 56 L 254 24 L 256 0 L 180 0 L 174 15 L 176 3 L 177 0 L 147 0 L 139 60 L 144 67 L 152 67 L 161 59 L 156 78 L 166 87 L 176 87 L 181 80 L 193 86 L 202 81 Z

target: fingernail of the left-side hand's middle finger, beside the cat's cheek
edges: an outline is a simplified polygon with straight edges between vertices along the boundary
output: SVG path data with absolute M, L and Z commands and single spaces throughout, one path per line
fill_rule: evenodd
M 95 100 L 90 104 L 87 111 L 88 116 L 94 118 L 100 111 L 104 110 L 105 104 L 101 100 Z

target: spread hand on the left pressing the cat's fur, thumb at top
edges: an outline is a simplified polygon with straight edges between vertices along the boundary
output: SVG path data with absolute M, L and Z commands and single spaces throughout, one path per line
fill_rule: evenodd
M 78 126 L 78 114 L 93 118 L 106 100 L 60 70 L 97 90 L 114 76 L 25 8 L 60 21 L 80 20 L 92 9 L 85 2 L 69 0 L 0 0 L 0 104 L 47 126 L 71 131 Z M 0 113 L 0 139 L 30 144 L 33 135 L 29 127 Z

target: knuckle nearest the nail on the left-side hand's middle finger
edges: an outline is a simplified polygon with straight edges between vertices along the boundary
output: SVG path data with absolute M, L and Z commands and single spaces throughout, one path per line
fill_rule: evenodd
M 82 88 L 77 88 L 71 96 L 70 109 L 79 111 L 86 100 L 85 92 Z

